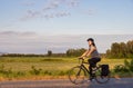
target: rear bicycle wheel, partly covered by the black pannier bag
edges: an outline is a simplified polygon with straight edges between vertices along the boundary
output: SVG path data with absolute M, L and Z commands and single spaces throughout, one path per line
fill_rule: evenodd
M 110 80 L 110 74 L 108 76 L 102 76 L 101 75 L 102 72 L 102 69 L 99 68 L 96 71 L 95 71 L 95 80 L 99 82 L 99 84 L 105 84 Z

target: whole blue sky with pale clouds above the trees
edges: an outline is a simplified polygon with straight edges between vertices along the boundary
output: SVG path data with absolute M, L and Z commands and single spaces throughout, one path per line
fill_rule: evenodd
M 89 37 L 100 52 L 133 40 L 133 0 L 0 0 L 1 52 L 64 52 Z

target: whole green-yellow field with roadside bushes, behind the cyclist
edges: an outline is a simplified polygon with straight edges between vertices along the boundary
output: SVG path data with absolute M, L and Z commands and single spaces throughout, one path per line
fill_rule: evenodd
M 123 65 L 123 61 L 124 59 L 102 59 L 99 63 L 109 63 L 113 69 L 115 65 Z M 0 69 L 3 70 L 0 76 L 2 78 L 61 77 L 66 76 L 68 70 L 78 65 L 79 59 L 68 57 L 0 57 Z

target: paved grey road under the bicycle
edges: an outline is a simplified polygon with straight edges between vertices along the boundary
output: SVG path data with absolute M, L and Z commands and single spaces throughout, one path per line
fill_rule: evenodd
M 83 85 L 73 85 L 69 80 L 29 80 L 29 81 L 2 81 L 0 88 L 133 88 L 133 78 L 112 78 L 108 84 L 98 84 L 95 80 Z

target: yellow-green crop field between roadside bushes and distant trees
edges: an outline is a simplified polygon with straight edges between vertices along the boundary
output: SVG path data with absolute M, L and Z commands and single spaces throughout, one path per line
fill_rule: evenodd
M 88 59 L 86 59 L 88 60 Z M 102 59 L 100 65 L 109 63 L 112 69 L 115 65 L 123 65 L 124 59 Z M 76 58 L 57 58 L 57 57 L 4 57 L 0 58 L 0 66 L 14 71 L 28 71 L 32 66 L 43 70 L 69 70 L 79 65 Z

